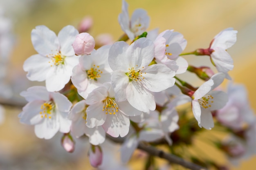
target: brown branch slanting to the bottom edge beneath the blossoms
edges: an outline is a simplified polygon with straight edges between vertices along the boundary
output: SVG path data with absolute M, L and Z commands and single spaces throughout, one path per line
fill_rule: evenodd
M 107 135 L 107 137 L 108 137 L 108 139 L 110 139 L 111 141 L 114 141 L 116 143 L 123 143 L 124 142 L 124 138 L 121 138 L 121 137 L 115 138 L 115 137 L 111 137 L 110 135 Z M 207 168 L 204 168 L 204 167 L 199 166 L 195 163 L 186 161 L 186 160 L 184 160 L 180 157 L 177 157 L 176 155 L 166 153 L 162 150 L 159 150 L 159 149 L 155 148 L 154 146 L 143 144 L 142 142 L 139 143 L 137 148 L 140 149 L 140 150 L 144 150 L 145 152 L 147 152 L 150 155 L 166 159 L 170 163 L 175 163 L 175 164 L 178 164 L 178 165 L 183 166 L 185 168 L 189 168 L 191 170 L 208 170 Z

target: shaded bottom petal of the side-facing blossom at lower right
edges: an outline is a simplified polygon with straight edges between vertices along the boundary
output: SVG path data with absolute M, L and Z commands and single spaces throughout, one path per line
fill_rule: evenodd
M 201 122 L 198 125 L 201 127 L 204 127 L 208 130 L 211 130 L 211 128 L 214 127 L 213 117 L 211 115 L 211 112 L 209 110 L 202 110 L 201 113 Z

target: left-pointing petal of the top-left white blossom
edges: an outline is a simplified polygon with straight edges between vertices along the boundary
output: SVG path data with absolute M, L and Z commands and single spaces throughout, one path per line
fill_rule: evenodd
M 31 55 L 23 64 L 24 71 L 27 71 L 27 78 L 31 81 L 42 82 L 51 68 L 49 57 L 36 54 Z

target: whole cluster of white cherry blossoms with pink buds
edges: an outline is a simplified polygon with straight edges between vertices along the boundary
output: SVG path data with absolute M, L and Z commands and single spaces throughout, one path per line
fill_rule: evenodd
M 29 57 L 23 68 L 29 80 L 45 81 L 45 87 L 34 86 L 20 94 L 29 102 L 19 115 L 20 122 L 34 125 L 39 138 L 50 139 L 62 132 L 68 152 L 74 150 L 72 136 L 88 136 L 94 167 L 101 164 L 100 146 L 110 136 L 125 138 L 121 146 L 124 162 L 140 141 L 164 139 L 170 146 L 182 140 L 189 143 L 192 131 L 210 130 L 214 124 L 235 133 L 246 122 L 252 130 L 243 129 L 244 135 L 251 137 L 256 131 L 255 117 L 248 103 L 241 102 L 246 97 L 236 99 L 240 92 L 231 88 L 225 93 L 217 88 L 225 78 L 231 79 L 227 72 L 233 69 L 233 60 L 226 50 L 236 42 L 237 31 L 225 29 L 208 49 L 182 53 L 187 41 L 181 33 L 147 32 L 150 18 L 145 10 L 135 10 L 129 19 L 128 4 L 123 0 L 118 21 L 124 35 L 100 47 L 89 33 L 81 31 L 88 31 L 92 21 L 89 26 L 81 24 L 79 31 L 65 26 L 58 35 L 43 25 L 32 30 L 31 41 L 38 54 Z M 189 65 L 181 57 L 187 54 L 209 55 L 219 73 L 207 66 Z M 193 87 L 179 79 L 186 71 L 205 82 Z M 176 110 L 189 102 L 193 119 Z M 184 130 L 191 133 L 182 135 Z M 253 143 L 256 139 L 248 140 Z M 222 145 L 220 148 L 228 144 Z

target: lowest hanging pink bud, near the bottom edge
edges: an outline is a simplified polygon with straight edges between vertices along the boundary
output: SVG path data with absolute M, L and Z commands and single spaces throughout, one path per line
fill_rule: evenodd
M 90 163 L 94 168 L 97 168 L 102 163 L 102 151 L 100 146 L 92 145 L 89 150 Z

